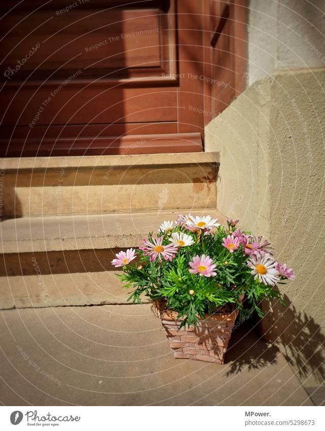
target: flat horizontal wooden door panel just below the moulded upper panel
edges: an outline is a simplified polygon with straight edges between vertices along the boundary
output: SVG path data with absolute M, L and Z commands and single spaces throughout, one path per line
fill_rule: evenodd
M 58 84 L 60 85 L 60 84 Z M 59 86 L 14 87 L 3 92 L 0 115 L 4 124 L 40 125 L 177 121 L 174 88 L 112 89 L 88 85 L 58 90 Z M 10 109 L 7 109 L 10 106 Z M 23 109 L 22 109 L 23 107 Z

